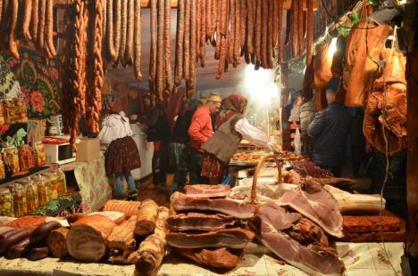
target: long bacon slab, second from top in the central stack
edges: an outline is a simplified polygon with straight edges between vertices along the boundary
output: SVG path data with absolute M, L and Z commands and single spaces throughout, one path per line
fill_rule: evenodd
M 176 211 L 214 211 L 225 215 L 233 215 L 240 219 L 248 219 L 255 214 L 255 206 L 250 204 L 240 203 L 232 199 L 198 199 L 188 197 L 178 191 L 171 196 L 171 206 Z

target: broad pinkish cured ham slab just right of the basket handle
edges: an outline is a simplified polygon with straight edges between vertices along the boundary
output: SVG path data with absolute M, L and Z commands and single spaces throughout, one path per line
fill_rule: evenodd
M 343 219 L 338 202 L 319 183 L 306 180 L 300 188 L 285 193 L 280 199 L 280 206 L 291 207 L 318 223 L 330 235 L 343 237 Z

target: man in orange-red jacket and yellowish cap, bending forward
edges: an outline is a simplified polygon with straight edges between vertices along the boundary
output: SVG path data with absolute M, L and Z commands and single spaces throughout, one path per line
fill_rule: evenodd
M 190 184 L 207 184 L 209 181 L 202 177 L 202 161 L 204 150 L 202 145 L 213 134 L 211 115 L 218 112 L 221 108 L 222 99 L 218 93 L 211 93 L 207 98 L 205 105 L 198 108 L 193 115 L 190 126 L 188 127 L 188 136 L 190 137 Z

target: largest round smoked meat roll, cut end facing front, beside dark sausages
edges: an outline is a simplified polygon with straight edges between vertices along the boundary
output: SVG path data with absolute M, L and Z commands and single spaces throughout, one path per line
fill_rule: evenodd
M 107 253 L 105 239 L 115 223 L 104 215 L 88 215 L 72 223 L 67 248 L 72 257 L 84 262 L 97 262 Z

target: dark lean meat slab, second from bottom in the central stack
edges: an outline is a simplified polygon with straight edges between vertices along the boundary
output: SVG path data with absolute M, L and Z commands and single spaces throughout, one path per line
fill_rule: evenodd
M 173 248 L 246 248 L 254 233 L 241 228 L 228 228 L 205 233 L 169 232 L 167 242 Z

